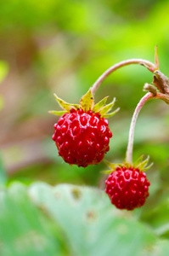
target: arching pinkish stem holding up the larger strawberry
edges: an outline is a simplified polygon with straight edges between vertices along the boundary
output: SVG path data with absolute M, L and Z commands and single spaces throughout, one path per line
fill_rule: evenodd
M 99 77 L 99 79 L 96 80 L 96 82 L 93 84 L 93 87 L 92 87 L 92 93 L 94 94 L 96 92 L 96 90 L 99 88 L 99 85 L 104 81 L 104 79 L 106 79 L 110 75 L 110 73 L 113 73 L 115 70 L 117 70 L 120 67 L 124 67 L 124 66 L 130 65 L 130 64 L 143 65 L 144 67 L 147 67 L 149 69 L 149 71 L 151 71 L 151 72 L 154 72 L 157 69 L 155 64 L 153 64 L 150 61 L 143 60 L 143 59 L 130 59 L 130 60 L 127 60 L 127 61 L 121 61 L 119 63 L 116 63 L 112 67 L 108 68 Z

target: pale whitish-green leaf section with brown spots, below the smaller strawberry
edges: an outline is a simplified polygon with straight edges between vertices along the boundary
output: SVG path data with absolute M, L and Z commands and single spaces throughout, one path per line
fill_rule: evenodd
M 155 235 L 146 225 L 111 205 L 99 189 L 35 183 L 29 189 L 34 204 L 59 224 L 69 241 L 70 255 L 147 255 Z M 125 214 L 125 212 L 124 212 Z M 132 241 L 132 243 L 131 243 Z M 153 255 L 153 254 L 152 254 Z

